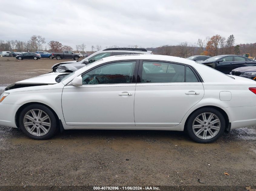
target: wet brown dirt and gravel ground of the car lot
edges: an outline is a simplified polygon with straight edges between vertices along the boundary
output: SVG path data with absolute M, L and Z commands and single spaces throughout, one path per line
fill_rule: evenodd
M 50 72 L 58 62 L 0 58 L 0 94 L 8 84 Z M 195 143 L 184 132 L 135 130 L 66 130 L 38 141 L 0 126 L 2 186 L 207 185 L 246 190 L 256 185 L 255 159 L 256 126 L 231 130 L 211 144 Z

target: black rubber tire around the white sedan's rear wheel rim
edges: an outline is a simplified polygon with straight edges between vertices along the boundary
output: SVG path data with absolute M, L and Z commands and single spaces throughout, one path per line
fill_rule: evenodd
M 216 115 L 219 118 L 219 121 L 220 121 L 219 132 L 212 138 L 209 138 L 209 139 L 199 138 L 198 136 L 195 135 L 195 133 L 193 131 L 192 126 L 193 126 L 194 119 L 196 119 L 196 117 L 202 113 L 213 113 L 214 115 Z M 192 115 L 188 119 L 187 126 L 185 128 L 186 128 L 186 131 L 187 131 L 189 137 L 191 139 L 193 139 L 195 142 L 211 143 L 211 142 L 216 141 L 223 134 L 223 132 L 225 130 L 225 119 L 224 119 L 224 116 L 222 115 L 222 113 L 219 112 L 218 110 L 211 108 L 211 107 L 206 107 L 206 108 L 199 109 L 199 110 L 195 111 L 194 113 L 192 113 Z M 205 128 L 205 129 L 207 129 L 207 128 Z

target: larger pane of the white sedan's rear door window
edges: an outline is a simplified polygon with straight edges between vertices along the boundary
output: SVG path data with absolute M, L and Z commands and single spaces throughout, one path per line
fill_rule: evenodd
M 184 82 L 185 66 L 166 62 L 143 61 L 142 83 Z

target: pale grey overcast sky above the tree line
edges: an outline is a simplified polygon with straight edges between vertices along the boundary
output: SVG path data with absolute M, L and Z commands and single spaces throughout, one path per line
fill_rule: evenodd
M 255 0 L 1 0 L 0 18 L 1 40 L 41 35 L 73 49 L 177 45 L 215 34 L 256 42 Z

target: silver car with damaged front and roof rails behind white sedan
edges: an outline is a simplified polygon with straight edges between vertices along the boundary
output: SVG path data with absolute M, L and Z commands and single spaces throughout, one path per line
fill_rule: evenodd
M 131 55 L 131 54 L 152 54 L 152 51 L 144 48 L 108 48 L 91 54 L 81 61 L 67 61 L 57 63 L 52 66 L 52 72 L 74 72 L 88 63 L 95 62 L 102 58 L 115 55 Z

